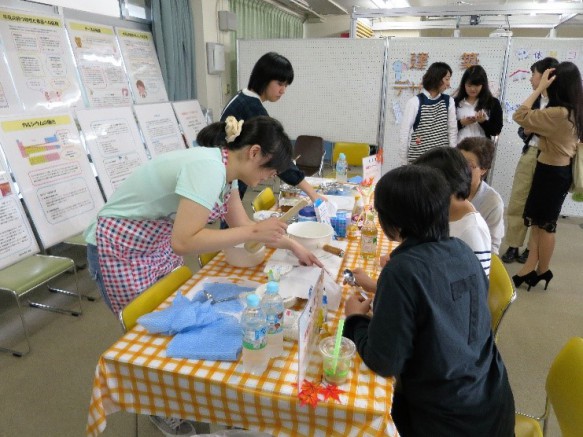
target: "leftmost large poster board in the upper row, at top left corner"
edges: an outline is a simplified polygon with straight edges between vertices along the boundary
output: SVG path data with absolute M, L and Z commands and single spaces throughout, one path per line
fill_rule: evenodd
M 63 20 L 0 9 L 0 37 L 26 110 L 83 106 Z

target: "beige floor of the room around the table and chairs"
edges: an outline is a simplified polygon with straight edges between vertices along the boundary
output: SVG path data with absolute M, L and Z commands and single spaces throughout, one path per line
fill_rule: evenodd
M 502 321 L 498 345 L 519 411 L 542 414 L 545 377 L 553 357 L 570 337 L 583 335 L 582 247 L 583 219 L 561 219 L 552 261 L 555 278 L 549 289 L 543 291 L 539 285 L 527 292 L 520 288 Z M 77 250 L 67 249 L 66 253 L 82 259 Z M 187 263 L 196 267 L 194 259 Z M 507 267 L 512 275 L 520 265 Z M 80 271 L 79 278 L 82 291 L 96 293 L 86 270 Z M 72 278 L 61 281 L 70 283 Z M 34 294 L 45 302 L 71 303 L 71 298 L 44 289 Z M 25 311 L 32 352 L 23 358 L 0 353 L 0 437 L 82 436 L 97 360 L 122 334 L 120 324 L 101 301 L 84 301 L 80 317 L 32 308 Z M 19 329 L 12 302 L 0 296 L 0 345 L 22 346 L 16 340 L 21 338 Z M 103 436 L 133 433 L 133 415 L 118 412 L 108 416 Z M 140 417 L 139 435 L 162 434 L 147 417 Z M 554 418 L 548 435 L 560 435 Z

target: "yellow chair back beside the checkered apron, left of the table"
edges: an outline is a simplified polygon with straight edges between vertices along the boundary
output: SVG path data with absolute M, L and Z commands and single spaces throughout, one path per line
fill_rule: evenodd
M 119 320 L 124 331 L 129 331 L 136 326 L 136 322 L 141 316 L 158 308 L 168 296 L 178 290 L 191 277 L 192 271 L 187 266 L 180 266 L 144 290 L 119 313 Z

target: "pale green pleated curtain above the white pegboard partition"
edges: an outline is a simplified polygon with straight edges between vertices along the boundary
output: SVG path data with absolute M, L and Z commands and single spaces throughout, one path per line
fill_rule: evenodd
M 237 15 L 237 31 L 231 33 L 231 94 L 237 92 L 237 39 L 303 38 L 303 20 L 263 0 L 229 0 Z

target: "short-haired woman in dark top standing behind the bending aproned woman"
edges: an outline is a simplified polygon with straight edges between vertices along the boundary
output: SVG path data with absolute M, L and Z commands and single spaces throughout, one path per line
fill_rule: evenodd
M 263 102 L 277 102 L 294 80 L 294 70 L 289 60 L 278 53 L 264 54 L 253 66 L 247 88 L 239 91 L 223 109 L 221 121 L 232 115 L 237 120 L 248 120 L 258 115 L 269 115 Z M 316 192 L 294 163 L 278 172 L 279 178 L 286 184 L 295 185 L 304 191 L 312 201 L 326 200 L 325 196 Z M 247 185 L 239 181 L 241 199 L 247 191 Z

